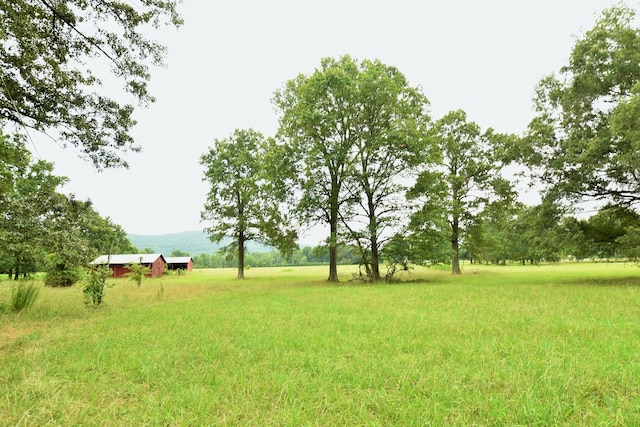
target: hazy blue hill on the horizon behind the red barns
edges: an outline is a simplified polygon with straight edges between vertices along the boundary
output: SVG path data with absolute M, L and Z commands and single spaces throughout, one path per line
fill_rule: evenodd
M 142 234 L 127 234 L 127 237 L 139 250 L 153 249 L 155 253 L 164 256 L 171 255 L 171 252 L 180 250 L 187 252 L 191 256 L 200 254 L 216 253 L 221 247 L 229 244 L 228 239 L 223 239 L 220 243 L 212 243 L 203 231 L 183 231 L 181 233 L 157 234 L 152 236 Z M 260 245 L 255 242 L 248 242 L 248 252 L 271 252 L 274 250 L 270 246 Z

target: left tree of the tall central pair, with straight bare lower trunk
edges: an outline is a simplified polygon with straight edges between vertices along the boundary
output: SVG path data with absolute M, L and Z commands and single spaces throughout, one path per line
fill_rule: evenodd
M 329 227 L 329 278 L 338 282 L 340 213 L 352 196 L 345 181 L 353 168 L 358 122 L 354 87 L 359 74 L 350 57 L 325 58 L 309 76 L 298 75 L 276 92 L 280 111 L 279 136 L 288 140 L 299 165 L 302 197 L 297 211 L 303 221 Z

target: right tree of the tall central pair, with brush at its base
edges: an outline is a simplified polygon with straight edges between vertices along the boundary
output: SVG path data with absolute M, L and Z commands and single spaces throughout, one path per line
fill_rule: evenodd
M 432 154 L 425 144 L 427 98 L 395 67 L 363 61 L 355 82 L 358 121 L 352 176 L 346 189 L 355 201 L 344 221 L 347 239 L 360 248 L 367 278 L 380 280 L 380 250 L 406 214 L 403 194 L 412 165 Z

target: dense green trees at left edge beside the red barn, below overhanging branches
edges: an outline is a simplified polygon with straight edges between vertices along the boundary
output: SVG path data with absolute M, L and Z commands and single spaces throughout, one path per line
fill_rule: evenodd
M 19 136 L 0 133 L 0 271 L 17 279 L 46 271 L 46 284 L 69 286 L 102 253 L 135 248 L 125 231 L 90 201 L 59 191 L 66 178 L 37 160 Z

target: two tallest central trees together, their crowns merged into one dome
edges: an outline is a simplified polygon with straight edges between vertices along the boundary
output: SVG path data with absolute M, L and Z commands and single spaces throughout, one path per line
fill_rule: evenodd
M 338 281 L 342 235 L 356 244 L 370 278 L 399 206 L 395 180 L 415 154 L 426 98 L 394 67 L 349 56 L 324 58 L 276 92 L 279 135 L 299 165 L 298 213 L 329 228 L 329 281 Z

